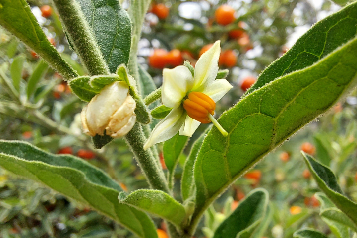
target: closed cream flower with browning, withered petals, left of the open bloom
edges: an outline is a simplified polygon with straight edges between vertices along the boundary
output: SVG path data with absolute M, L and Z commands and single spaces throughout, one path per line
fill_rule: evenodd
M 126 135 L 136 121 L 135 106 L 125 82 L 105 86 L 82 110 L 84 133 L 95 136 L 106 131 L 113 138 Z

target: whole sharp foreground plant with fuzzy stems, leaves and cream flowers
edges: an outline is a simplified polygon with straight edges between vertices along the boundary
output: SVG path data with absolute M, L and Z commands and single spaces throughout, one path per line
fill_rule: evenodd
M 148 92 L 147 85 L 154 85 L 153 81 L 136 58 L 150 1 L 132 0 L 128 12 L 117 0 L 53 3 L 69 44 L 89 75 L 79 76 L 61 58 L 25 0 L 0 0 L 0 24 L 67 79 L 81 100 L 89 102 L 82 123 L 96 148 L 124 137 L 150 189 L 126 194 L 109 175 L 89 163 L 21 141 L 0 141 L 0 165 L 91 206 L 141 238 L 157 237 L 149 215 L 164 219 L 172 238 L 193 236 L 203 213 L 211 212 L 209 206 L 227 187 L 356 85 L 357 2 L 311 27 L 218 120 L 213 117 L 215 104 L 232 88 L 225 79 L 227 71 L 218 70 L 218 41 L 195 67 L 185 62 L 164 69 L 162 88 L 151 87 Z M 19 87 L 19 81 L 10 87 L 14 96 Z M 148 105 L 160 98 L 163 105 L 150 112 Z M 162 119 L 152 132 L 150 114 Z M 186 159 L 179 202 L 173 197 L 179 156 L 199 124 L 211 121 L 214 126 L 197 139 Z M 164 142 L 167 177 L 158 163 L 155 144 L 160 142 Z M 323 216 L 356 229 L 356 203 L 343 194 L 327 167 L 304 157 L 328 197 L 319 196 L 328 204 Z M 259 234 L 270 214 L 268 196 L 264 189 L 252 191 L 211 231 L 212 236 Z M 294 236 L 324 237 L 314 230 L 300 230 Z

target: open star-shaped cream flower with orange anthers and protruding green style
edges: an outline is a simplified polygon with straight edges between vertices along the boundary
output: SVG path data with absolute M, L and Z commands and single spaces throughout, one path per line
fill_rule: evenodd
M 163 70 L 162 103 L 173 110 L 154 128 L 144 149 L 180 135 L 192 136 L 201 123 L 213 122 L 227 136 L 227 132 L 213 118 L 215 103 L 233 86 L 226 79 L 215 80 L 218 72 L 220 41 L 198 59 L 194 77 L 185 66 Z

